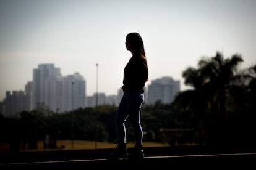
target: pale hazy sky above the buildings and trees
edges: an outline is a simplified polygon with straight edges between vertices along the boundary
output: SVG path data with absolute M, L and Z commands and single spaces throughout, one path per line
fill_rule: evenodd
M 149 82 L 182 71 L 202 57 L 241 54 L 241 68 L 256 64 L 254 0 L 0 0 L 0 101 L 24 90 L 33 68 L 54 63 L 62 76 L 79 72 L 87 95 L 116 95 L 131 57 L 124 42 L 141 34 Z

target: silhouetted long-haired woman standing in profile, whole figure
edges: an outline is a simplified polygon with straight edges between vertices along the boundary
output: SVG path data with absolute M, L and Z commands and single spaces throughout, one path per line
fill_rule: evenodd
M 140 110 L 144 102 L 144 87 L 148 81 L 148 65 L 144 44 L 139 33 L 129 33 L 126 36 L 126 49 L 132 53 L 124 68 L 123 96 L 115 117 L 117 131 L 116 156 L 126 158 L 126 120 L 129 116 L 134 129 L 135 147 L 130 156 L 143 158 L 143 129 L 140 124 Z

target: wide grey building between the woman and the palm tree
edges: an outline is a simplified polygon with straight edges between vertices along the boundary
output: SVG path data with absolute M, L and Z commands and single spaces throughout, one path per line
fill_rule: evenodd
M 171 77 L 164 76 L 160 79 L 155 79 L 148 85 L 147 103 L 155 104 L 160 100 L 164 104 L 173 102 L 174 97 L 180 91 L 180 81 L 175 81 Z

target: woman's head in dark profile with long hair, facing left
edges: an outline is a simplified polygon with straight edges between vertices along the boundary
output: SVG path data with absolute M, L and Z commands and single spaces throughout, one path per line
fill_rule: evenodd
M 144 44 L 139 33 L 129 33 L 126 36 L 126 48 L 133 54 L 144 55 Z

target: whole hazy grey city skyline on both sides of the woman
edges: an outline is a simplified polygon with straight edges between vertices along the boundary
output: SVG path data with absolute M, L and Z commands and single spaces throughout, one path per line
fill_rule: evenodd
M 93 96 L 88 96 L 86 84 L 79 73 L 62 75 L 61 68 L 54 67 L 53 63 L 41 63 L 33 69 L 33 81 L 25 84 L 24 91 L 6 91 L 5 99 L 0 102 L 0 113 L 13 116 L 22 111 L 40 110 L 49 115 L 97 105 L 119 105 L 122 88 L 118 89 L 117 95 L 96 91 Z M 155 79 L 148 88 L 145 87 L 145 103 L 154 105 L 158 100 L 171 103 L 179 91 L 179 80 L 170 76 Z

